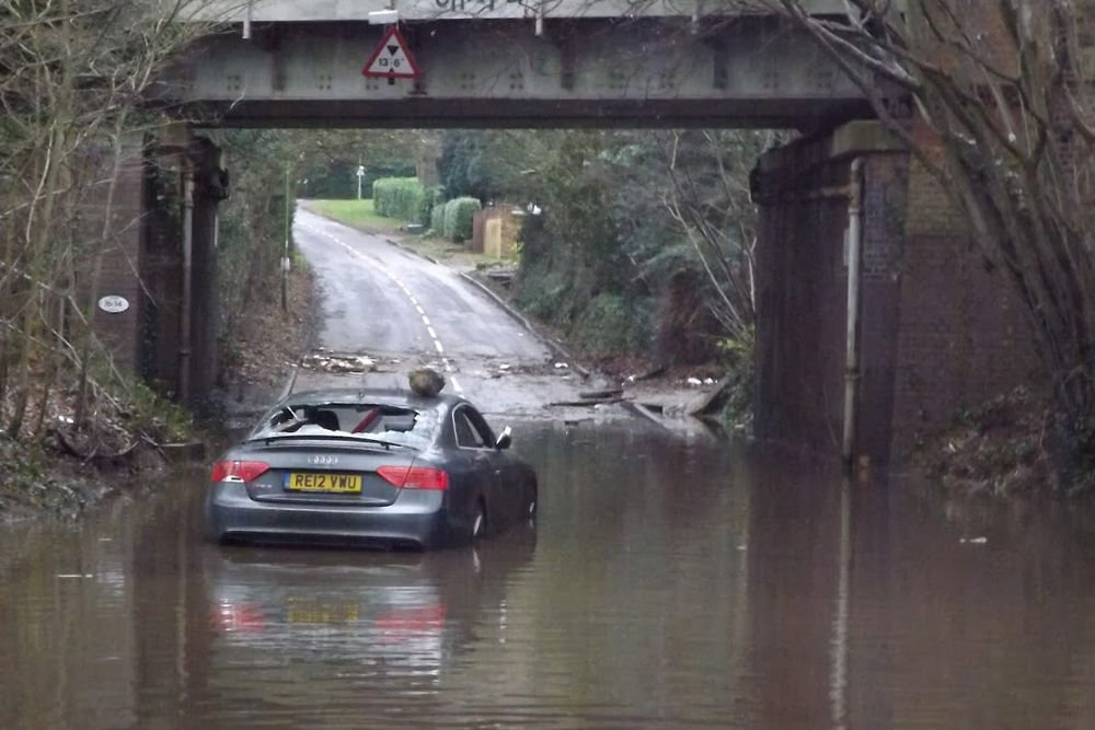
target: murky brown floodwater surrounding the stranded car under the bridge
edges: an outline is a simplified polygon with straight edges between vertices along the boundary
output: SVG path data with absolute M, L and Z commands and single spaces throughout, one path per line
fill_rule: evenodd
M 1049 510 L 520 425 L 534 531 L 223 548 L 204 474 L 0 532 L 0 728 L 1095 728 L 1095 540 Z

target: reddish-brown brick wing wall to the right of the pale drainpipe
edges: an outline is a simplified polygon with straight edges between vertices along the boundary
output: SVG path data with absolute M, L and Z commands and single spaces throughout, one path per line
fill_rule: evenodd
M 909 210 L 894 393 L 898 453 L 961 408 L 1019 384 L 1046 384 L 1011 282 L 919 163 L 911 165 Z

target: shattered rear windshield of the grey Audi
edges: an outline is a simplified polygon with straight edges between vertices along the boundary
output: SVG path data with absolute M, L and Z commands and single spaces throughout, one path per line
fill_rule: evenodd
M 434 440 L 438 417 L 380 403 L 288 403 L 258 422 L 251 439 L 289 436 L 338 436 L 424 449 Z

